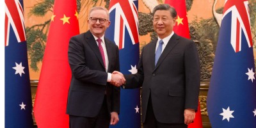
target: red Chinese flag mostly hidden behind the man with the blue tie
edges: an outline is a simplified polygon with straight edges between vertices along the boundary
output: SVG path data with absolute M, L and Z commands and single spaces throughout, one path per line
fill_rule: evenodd
M 164 3 L 170 4 L 170 6 L 173 6 L 177 11 L 177 19 L 176 19 L 176 24 L 173 28 L 173 31 L 177 33 L 177 35 L 190 39 L 185 0 L 182 0 L 182 1 L 166 0 Z M 195 128 L 203 127 L 199 102 L 198 102 L 198 109 L 196 112 L 195 120 L 193 123 L 188 125 L 188 128 L 193 128 L 193 127 Z

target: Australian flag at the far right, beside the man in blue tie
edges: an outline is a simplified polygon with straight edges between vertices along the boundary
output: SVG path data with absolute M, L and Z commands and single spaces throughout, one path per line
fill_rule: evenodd
M 256 81 L 248 1 L 225 2 L 207 97 L 213 128 L 256 127 Z

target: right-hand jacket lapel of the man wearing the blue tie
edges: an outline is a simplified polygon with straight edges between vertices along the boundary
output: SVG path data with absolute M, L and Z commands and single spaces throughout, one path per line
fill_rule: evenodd
M 172 51 L 172 49 L 175 47 L 175 45 L 178 44 L 178 40 L 179 36 L 177 36 L 175 33 L 173 34 L 172 38 L 170 38 L 168 44 L 166 45 L 166 47 L 164 48 L 164 51 L 162 52 L 159 60 L 156 63 L 156 67 L 159 67 L 159 65 L 161 65 L 162 61 L 164 60 L 164 58 L 166 58 L 166 56 L 170 53 L 170 51 Z

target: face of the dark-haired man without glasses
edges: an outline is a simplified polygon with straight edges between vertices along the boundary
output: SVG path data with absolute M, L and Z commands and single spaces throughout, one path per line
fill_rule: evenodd
M 176 18 L 171 16 L 169 10 L 157 10 L 153 17 L 153 27 L 159 38 L 165 38 L 173 31 Z

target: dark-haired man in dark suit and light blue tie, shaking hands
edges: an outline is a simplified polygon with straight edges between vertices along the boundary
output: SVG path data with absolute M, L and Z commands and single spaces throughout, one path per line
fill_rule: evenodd
M 143 47 L 138 73 L 125 75 L 123 88 L 142 86 L 144 128 L 188 127 L 198 106 L 198 52 L 193 41 L 173 32 L 177 17 L 175 8 L 159 4 L 152 15 L 158 38 Z M 120 86 L 123 83 L 114 81 L 112 84 Z

